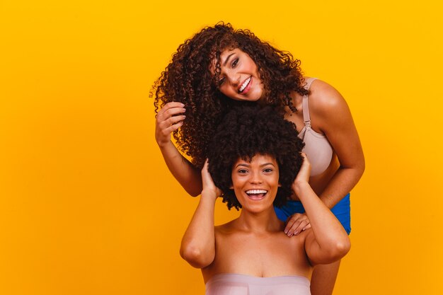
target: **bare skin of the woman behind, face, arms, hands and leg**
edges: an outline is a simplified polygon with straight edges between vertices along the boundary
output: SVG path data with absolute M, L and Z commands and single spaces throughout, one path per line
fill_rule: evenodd
M 230 50 L 226 50 L 221 55 L 220 76 L 225 80 L 220 91 L 226 96 L 238 100 L 242 97 L 238 96 L 239 86 L 241 87 L 250 76 L 253 76 L 253 81 L 257 82 L 257 77 L 260 77 L 260 75 L 254 71 L 251 61 L 245 60 L 248 58 L 246 57 L 247 54 L 234 56 L 231 53 Z M 236 64 L 226 62 L 225 64 L 227 57 L 229 59 L 237 57 L 238 62 Z M 260 83 L 255 83 L 252 86 L 258 87 Z M 332 208 L 352 190 L 352 187 L 361 178 L 364 172 L 364 155 L 350 109 L 343 96 L 333 86 L 320 80 L 313 81 L 310 90 L 309 110 L 312 128 L 326 136 L 333 147 L 334 154 L 330 166 L 321 175 L 310 178 L 309 184 L 323 203 L 326 204 L 326 207 Z M 251 90 L 248 92 L 257 93 L 257 91 Z M 236 94 L 234 95 L 234 93 Z M 255 95 L 254 97 L 248 97 L 247 94 L 245 100 L 263 103 L 264 93 L 261 96 Z M 296 92 L 290 93 L 290 96 L 297 112 L 287 108 L 285 118 L 294 122 L 297 128 L 301 129 L 304 125 L 301 106 L 302 96 Z M 182 114 L 185 114 L 183 106 L 178 103 L 166 103 L 157 115 L 156 139 L 171 173 L 190 195 L 196 196 L 200 194 L 202 189 L 200 173 L 188 160 L 181 156 L 171 142 L 171 132 L 180 128 L 183 124 L 182 121 L 186 120 L 185 117 L 180 117 Z M 176 115 L 179 116 L 174 117 Z M 309 229 L 309 227 L 310 221 L 306 214 L 294 214 L 287 220 L 284 232 L 287 236 L 293 236 Z M 311 289 L 312 294 L 332 294 L 339 265 L 340 262 L 335 262 L 333 265 L 316 267 L 311 286 L 312 288 L 318 286 L 318 291 Z M 318 272 L 318 276 L 316 276 L 316 272 Z

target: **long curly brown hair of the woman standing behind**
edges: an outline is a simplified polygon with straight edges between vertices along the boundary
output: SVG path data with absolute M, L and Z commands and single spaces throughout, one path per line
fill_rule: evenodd
M 292 91 L 301 95 L 309 93 L 303 87 L 300 61 L 289 52 L 261 41 L 250 30 L 234 30 L 230 23 L 217 23 L 185 40 L 154 83 L 150 96 L 154 96 L 156 112 L 172 101 L 185 105 L 186 119 L 183 126 L 173 132 L 173 137 L 197 168 L 205 163 L 209 141 L 227 110 L 248 104 L 224 96 L 215 82 L 220 54 L 234 48 L 246 52 L 257 64 L 267 105 L 279 112 L 284 112 L 286 106 L 296 111 L 289 94 Z M 215 75 L 210 71 L 214 59 L 217 59 Z

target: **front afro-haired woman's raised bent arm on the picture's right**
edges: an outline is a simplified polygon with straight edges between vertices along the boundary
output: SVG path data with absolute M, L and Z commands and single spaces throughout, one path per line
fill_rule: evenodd
M 332 263 L 350 250 L 350 239 L 330 209 L 318 198 L 309 185 L 311 164 L 304 154 L 304 162 L 292 188 L 301 200 L 311 222 L 306 233 L 305 250 L 312 265 Z

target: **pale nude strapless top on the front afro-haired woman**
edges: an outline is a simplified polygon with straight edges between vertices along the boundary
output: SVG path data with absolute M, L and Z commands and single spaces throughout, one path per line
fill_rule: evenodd
M 206 295 L 310 295 L 306 277 L 253 277 L 216 274 L 206 282 Z

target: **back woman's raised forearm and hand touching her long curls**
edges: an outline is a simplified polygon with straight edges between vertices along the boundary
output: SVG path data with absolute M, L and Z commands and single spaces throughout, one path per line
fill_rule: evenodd
M 171 141 L 171 133 L 183 125 L 185 120 L 185 108 L 183 103 L 166 103 L 156 116 L 156 141 L 159 145 L 166 166 L 178 183 L 192 195 L 196 197 L 202 192 L 202 176 L 200 170 L 195 168 L 177 150 Z

